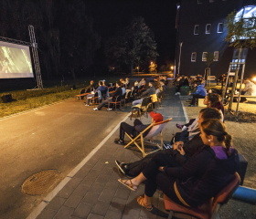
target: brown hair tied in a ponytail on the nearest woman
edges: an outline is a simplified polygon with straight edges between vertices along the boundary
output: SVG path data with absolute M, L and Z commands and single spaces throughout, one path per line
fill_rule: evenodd
M 207 135 L 213 135 L 217 137 L 217 140 L 224 141 L 226 151 L 229 153 L 231 147 L 231 136 L 226 132 L 225 125 L 219 120 L 204 120 L 201 124 L 201 129 Z

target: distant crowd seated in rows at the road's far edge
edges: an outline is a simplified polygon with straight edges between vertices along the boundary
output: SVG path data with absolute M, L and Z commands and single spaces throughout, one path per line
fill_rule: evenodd
M 167 78 L 165 77 L 157 77 L 149 82 L 142 78 L 135 80 L 132 84 L 129 78 L 120 78 L 114 84 L 107 84 L 105 80 L 101 80 L 96 86 L 91 80 L 90 85 L 82 89 L 84 104 L 85 106 L 99 104 L 93 110 L 101 110 L 103 107 L 106 107 L 107 110 L 113 110 L 112 103 L 117 99 L 134 100 L 133 104 L 137 104 L 141 103 L 145 97 L 150 97 L 153 94 L 159 94 L 160 98 L 166 89 L 166 81 Z M 94 99 L 97 101 L 92 101 Z

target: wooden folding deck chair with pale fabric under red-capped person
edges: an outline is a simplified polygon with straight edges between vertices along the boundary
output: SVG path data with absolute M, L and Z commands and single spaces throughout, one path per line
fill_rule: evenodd
M 155 122 L 152 123 L 151 125 L 149 125 L 145 130 L 143 130 L 142 132 L 140 132 L 135 138 L 132 138 L 132 136 L 130 136 L 129 134 L 126 134 L 126 136 L 131 140 L 128 144 L 126 144 L 124 146 L 124 148 L 129 147 L 132 144 L 135 144 L 135 146 L 139 149 L 139 151 L 141 151 L 143 153 L 143 157 L 146 156 L 149 153 L 153 153 L 155 151 L 160 151 L 163 150 L 163 135 L 162 135 L 162 131 L 165 128 L 165 125 L 170 121 L 171 119 L 168 120 L 164 120 L 164 121 L 160 121 L 160 122 Z M 144 136 L 144 133 L 149 130 L 149 132 L 146 134 L 146 136 Z M 148 140 L 148 139 L 152 139 L 153 137 L 157 136 L 158 134 L 160 134 L 160 138 L 161 138 L 161 143 L 156 144 L 157 149 L 154 151 L 150 151 L 150 152 L 145 152 L 144 150 L 144 140 Z M 140 141 L 140 142 L 137 142 Z

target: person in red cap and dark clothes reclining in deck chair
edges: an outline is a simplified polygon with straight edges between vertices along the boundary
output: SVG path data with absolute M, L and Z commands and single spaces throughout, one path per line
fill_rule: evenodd
M 149 115 L 152 118 L 152 123 L 163 121 L 163 116 L 160 113 L 156 113 L 155 111 L 152 111 L 152 112 L 149 113 Z M 142 123 L 142 121 L 138 120 L 138 119 L 134 120 L 133 126 L 127 124 L 126 122 L 122 122 L 120 124 L 120 129 L 119 129 L 120 130 L 119 139 L 115 139 L 114 142 L 116 144 L 125 145 L 125 143 L 124 143 L 125 132 L 134 138 L 140 132 L 145 130 L 149 125 L 150 124 L 144 125 Z M 149 130 L 145 131 L 144 136 L 146 136 L 148 132 L 149 132 Z

